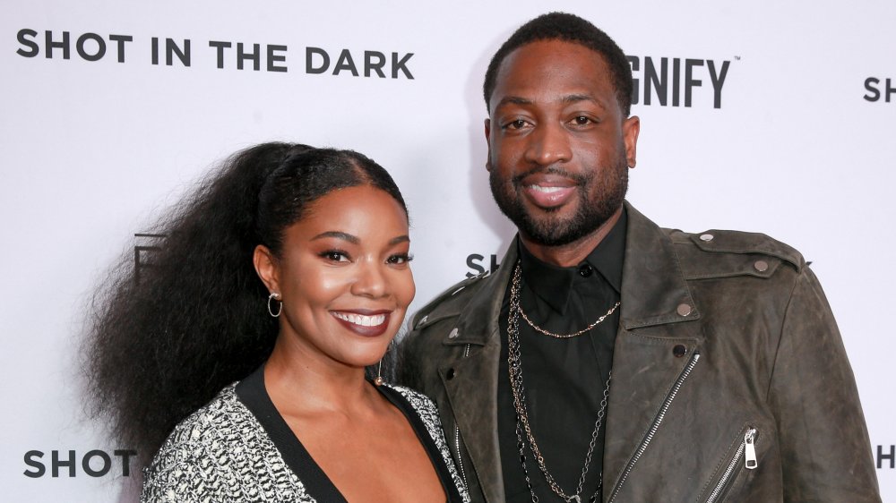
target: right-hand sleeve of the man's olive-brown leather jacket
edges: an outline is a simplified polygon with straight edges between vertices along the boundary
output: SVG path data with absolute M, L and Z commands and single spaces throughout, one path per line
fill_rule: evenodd
M 856 381 L 821 285 L 804 267 L 771 376 L 784 501 L 881 501 Z

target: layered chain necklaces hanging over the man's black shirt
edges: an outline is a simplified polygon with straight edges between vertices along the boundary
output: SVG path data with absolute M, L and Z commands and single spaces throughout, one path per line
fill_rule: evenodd
M 521 276 L 522 274 L 520 263 L 517 262 L 516 268 L 513 269 L 513 281 L 511 282 L 510 288 L 510 310 L 507 320 L 507 368 L 510 373 L 510 388 L 513 392 L 513 408 L 516 411 L 516 439 L 517 447 L 520 449 L 520 463 L 522 465 L 522 472 L 525 475 L 526 485 L 529 487 L 529 492 L 532 496 L 532 503 L 538 503 L 538 496 L 535 494 L 535 490 L 532 489 L 529 470 L 526 467 L 526 442 L 529 442 L 532 456 L 535 458 L 538 469 L 541 471 L 542 475 L 544 475 L 545 481 L 547 481 L 547 485 L 550 486 L 551 490 L 553 490 L 554 493 L 564 501 L 581 503 L 582 486 L 584 486 L 585 484 L 585 475 L 588 473 L 588 468 L 591 465 L 591 456 L 594 454 L 594 448 L 597 445 L 600 426 L 603 423 L 604 415 L 607 412 L 607 396 L 609 396 L 610 379 L 612 379 L 613 377 L 613 372 L 610 371 L 609 377 L 607 377 L 607 384 L 606 386 L 604 386 L 604 394 L 603 398 L 600 400 L 598 419 L 594 422 L 594 431 L 591 432 L 591 439 L 588 444 L 588 452 L 585 454 L 585 465 L 582 466 L 582 476 L 579 477 L 579 485 L 576 486 L 575 492 L 573 494 L 567 494 L 563 489 L 560 488 L 560 485 L 556 482 L 556 480 L 554 480 L 554 476 L 547 471 L 545 458 L 544 456 L 542 456 L 541 450 L 538 448 L 538 443 L 536 443 L 535 436 L 532 434 L 532 429 L 530 427 L 529 414 L 526 412 L 526 389 L 522 384 L 520 318 L 525 320 L 531 328 L 534 328 L 540 334 L 565 339 L 581 336 L 591 328 L 597 327 L 599 323 L 601 323 L 603 320 L 606 320 L 608 316 L 616 311 L 616 308 L 619 307 L 619 303 L 616 303 L 616 305 L 610 308 L 610 310 L 607 311 L 606 314 L 601 316 L 594 323 L 591 323 L 587 328 L 583 328 L 582 330 L 574 332 L 573 334 L 555 334 L 538 327 L 538 325 L 533 323 L 529 319 L 529 317 L 526 316 L 526 313 L 522 311 L 522 307 L 520 304 L 520 290 L 522 283 Z M 524 434 L 525 439 L 523 439 Z M 594 501 L 597 498 L 600 487 L 602 485 L 603 473 L 599 474 L 597 490 L 595 490 L 594 494 L 591 495 L 589 501 Z

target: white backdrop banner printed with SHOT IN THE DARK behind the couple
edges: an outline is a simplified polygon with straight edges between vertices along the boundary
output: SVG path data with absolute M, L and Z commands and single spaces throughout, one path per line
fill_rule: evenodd
M 0 18 L 0 487 L 134 501 L 134 448 L 87 419 L 90 293 L 211 166 L 261 141 L 357 149 L 409 203 L 420 307 L 496 267 L 482 76 L 556 3 L 7 2 Z M 661 226 L 763 232 L 813 263 L 896 500 L 896 4 L 569 1 L 632 64 L 629 199 Z M 882 321 L 883 320 L 883 321 Z M 836 446 L 831 446 L 836 448 Z M 846 476 L 846 475 L 844 475 Z

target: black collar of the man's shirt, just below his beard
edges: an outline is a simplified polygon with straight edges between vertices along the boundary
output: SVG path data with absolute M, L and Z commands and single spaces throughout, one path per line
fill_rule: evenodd
M 599 277 L 602 277 L 609 286 L 616 290 L 617 294 L 620 293 L 622 291 L 622 267 L 625 257 L 625 229 L 627 226 L 628 217 L 623 209 L 616 224 L 594 247 L 594 250 L 591 250 L 585 260 L 568 268 L 557 267 L 538 260 L 520 242 L 523 281 L 541 300 L 561 314 L 566 311 L 569 297 L 573 293 L 575 279 L 580 277 L 579 270 L 582 268 L 590 266 L 599 273 L 599 275 L 592 275 L 590 279 L 599 280 Z

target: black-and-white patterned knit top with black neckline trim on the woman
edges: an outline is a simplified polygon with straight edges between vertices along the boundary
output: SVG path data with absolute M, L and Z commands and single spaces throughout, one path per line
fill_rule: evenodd
M 470 496 L 452 462 L 435 405 L 409 388 L 380 393 L 408 418 L 448 501 Z M 177 425 L 144 471 L 142 502 L 344 502 L 277 413 L 263 371 L 224 388 Z

